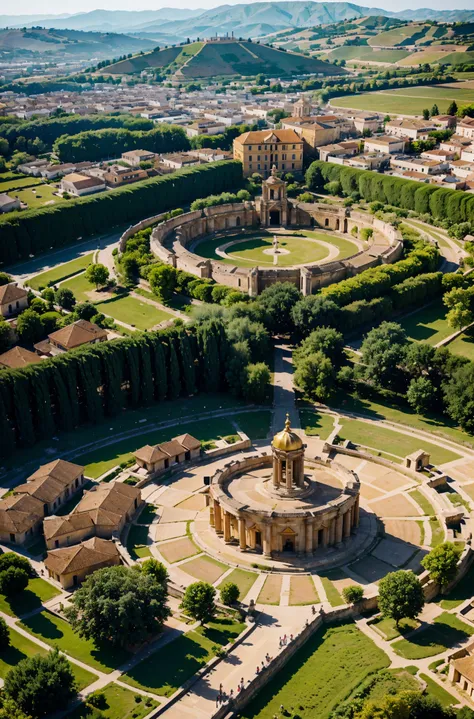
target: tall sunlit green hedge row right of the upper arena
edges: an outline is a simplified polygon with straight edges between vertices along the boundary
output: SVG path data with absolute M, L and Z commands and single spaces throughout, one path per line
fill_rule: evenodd
M 452 223 L 474 222 L 474 195 L 461 190 L 447 190 L 316 160 L 306 172 L 307 185 L 311 190 L 321 191 L 328 182 L 340 182 L 346 195 L 358 192 L 367 202 L 429 213 L 438 220 L 449 219 Z

